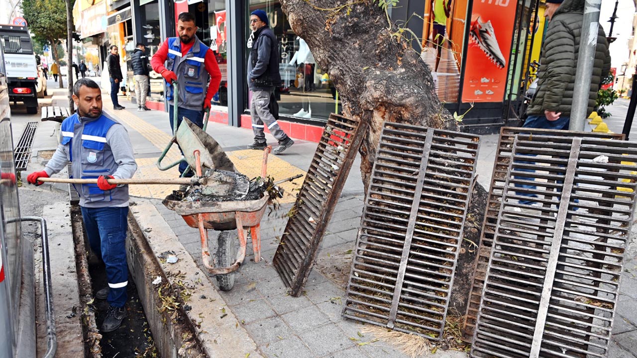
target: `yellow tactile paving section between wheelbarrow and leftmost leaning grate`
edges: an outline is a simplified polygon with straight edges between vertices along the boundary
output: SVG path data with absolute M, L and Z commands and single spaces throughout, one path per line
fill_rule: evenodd
M 263 162 L 263 152 L 260 150 L 235 150 L 234 152 L 226 153 L 234 166 L 238 171 L 247 175 L 248 178 L 255 178 L 261 176 L 261 163 Z M 268 156 L 268 175 L 272 176 L 274 180 L 282 180 L 290 178 L 291 176 L 301 174 L 303 177 L 293 180 L 292 182 L 285 182 L 280 187 L 285 190 L 285 194 L 280 203 L 294 203 L 296 200 L 296 194 L 305 180 L 305 171 L 293 166 L 289 162 L 279 159 L 275 155 Z

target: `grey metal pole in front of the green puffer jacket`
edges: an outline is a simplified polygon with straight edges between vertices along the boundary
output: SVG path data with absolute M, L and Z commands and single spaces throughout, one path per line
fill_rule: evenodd
M 590 77 L 595 62 L 595 48 L 597 47 L 599 8 L 601 0 L 586 0 L 580 36 L 580 53 L 577 57 L 575 73 L 575 92 L 571 105 L 570 131 L 583 131 L 584 120 L 589 106 Z

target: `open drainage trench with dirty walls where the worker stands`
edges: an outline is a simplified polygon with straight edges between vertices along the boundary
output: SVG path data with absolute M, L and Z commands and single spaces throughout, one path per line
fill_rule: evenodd
M 131 213 L 126 240 L 129 264 L 127 317 L 116 331 L 101 333 L 99 325 L 104 319 L 101 308 L 108 308 L 108 303 L 97 303 L 94 294 L 106 285 L 103 267 L 89 264 L 88 240 L 77 205 L 71 206 L 71 223 L 82 304 L 78 314 L 82 315 L 86 357 L 208 357 L 194 323 L 185 311 L 183 292 L 168 283 L 168 277 Z M 94 277 L 93 284 L 90 276 Z M 162 283 L 155 285 L 153 281 L 158 276 Z M 136 287 L 140 289 L 136 290 Z M 148 287 L 152 289 L 145 289 Z

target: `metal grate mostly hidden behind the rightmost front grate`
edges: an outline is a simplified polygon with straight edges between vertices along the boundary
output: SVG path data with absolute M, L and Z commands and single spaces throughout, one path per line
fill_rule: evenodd
M 480 239 L 480 249 L 475 262 L 471 292 L 469 293 L 469 303 L 464 320 L 464 338 L 468 341 L 473 337 L 473 327 L 478 316 L 478 306 L 480 296 L 482 296 L 482 285 L 487 272 L 487 264 L 493 243 L 493 234 L 496 229 L 497 214 L 500 211 L 502 189 L 505 185 L 506 171 L 508 170 L 511 150 L 515 134 L 529 133 L 532 136 L 567 136 L 585 138 L 606 138 L 623 140 L 624 134 L 603 134 L 594 132 L 573 132 L 573 131 L 552 131 L 548 129 L 531 129 L 520 127 L 503 127 L 500 130 L 500 138 L 497 143 L 496 162 L 491 176 L 489 187 L 489 197 L 487 199 L 487 209 L 482 225 L 482 238 Z

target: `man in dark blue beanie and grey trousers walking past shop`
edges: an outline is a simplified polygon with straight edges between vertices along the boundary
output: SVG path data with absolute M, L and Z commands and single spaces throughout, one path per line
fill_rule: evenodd
M 252 102 L 250 103 L 250 115 L 252 117 L 252 131 L 254 143 L 248 145 L 248 149 L 263 150 L 266 143 L 264 123 L 269 131 L 278 140 L 279 146 L 272 152 L 281 154 L 294 144 L 292 138 L 287 136 L 270 108 L 271 101 L 275 101 L 274 92 L 281 85 L 279 73 L 280 57 L 278 53 L 278 41 L 272 29 L 268 26 L 266 11 L 254 10 L 250 14 L 250 28 L 252 34 L 248 39 L 250 58 L 248 59 L 248 87 L 252 90 Z M 306 64 L 306 66 L 308 66 Z

